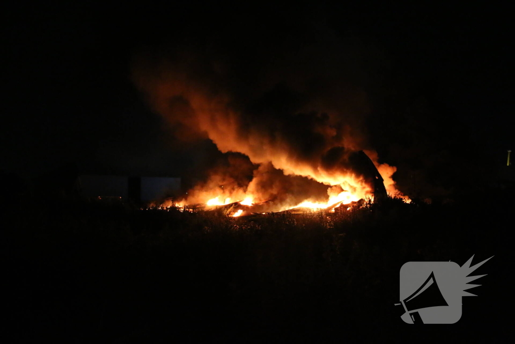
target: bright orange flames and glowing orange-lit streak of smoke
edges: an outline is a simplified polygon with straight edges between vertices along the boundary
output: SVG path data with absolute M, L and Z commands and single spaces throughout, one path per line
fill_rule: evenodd
M 269 116 L 266 128 L 260 128 L 261 119 L 247 122 L 250 117 L 245 116 L 240 108 L 231 105 L 237 103 L 233 99 L 235 95 L 220 88 L 216 81 L 197 75 L 193 60 L 185 57 L 179 58 L 179 61 L 163 60 L 162 63 L 154 64 L 152 59 L 139 56 L 133 66 L 132 77 L 136 85 L 148 95 L 153 110 L 163 114 L 170 122 L 180 123 L 188 128 L 192 136 L 207 136 L 220 152 L 239 152 L 247 156 L 253 164 L 260 165 L 260 168 L 257 172 L 254 171 L 254 178 L 246 186 L 234 181 L 234 178 L 222 174 L 214 175 L 208 183 L 197 185 L 191 190 L 190 196 L 181 201 L 182 204 L 204 203 L 207 206 L 219 206 L 229 204 L 231 200 L 243 200 L 240 204 L 251 206 L 268 201 L 278 192 L 263 190 L 266 187 L 273 189 L 277 184 L 273 184 L 272 180 L 265 187 L 259 185 L 259 181 L 256 182 L 260 176 L 270 173 L 266 169 L 267 164 L 286 176 L 301 176 L 328 187 L 327 195 L 323 199 L 320 195 L 317 197 L 303 194 L 303 200 L 288 198 L 291 193 L 289 185 L 282 189 L 277 187 L 283 196 L 276 204 L 281 210 L 295 207 L 321 209 L 337 203 L 349 204 L 373 197 L 371 187 L 361 177 L 354 175 L 349 169 L 334 168 L 339 165 L 329 164 L 332 167 L 328 168 L 328 164 L 323 163 L 325 160 L 321 159 L 322 156 L 331 157 L 331 154 L 326 155 L 334 152 L 340 159 L 338 161 L 345 162 L 347 152 L 359 151 L 364 147 L 362 135 L 351 130 L 350 125 L 344 125 L 344 119 L 348 118 L 345 111 L 314 101 L 296 111 L 304 113 L 311 111 L 311 108 L 319 108 L 320 116 L 308 114 L 306 117 L 291 119 L 284 117 L 284 121 L 274 120 L 278 116 Z M 356 91 L 352 99 L 352 104 L 355 104 L 358 111 L 356 114 L 368 112 L 366 95 L 363 92 Z M 322 100 L 320 102 L 323 103 Z M 281 135 L 283 129 L 289 123 L 297 121 L 297 118 L 309 119 L 310 121 L 304 121 L 308 126 L 303 129 L 307 133 L 316 133 L 312 138 L 321 142 L 309 156 L 298 154 L 297 140 L 292 141 L 287 135 Z M 309 137 L 306 140 L 311 142 Z M 375 151 L 364 152 L 383 177 L 387 192 L 392 196 L 402 197 L 407 202 L 409 198 L 397 190 L 392 178 L 397 168 L 379 163 Z M 220 186 L 226 187 L 221 190 Z

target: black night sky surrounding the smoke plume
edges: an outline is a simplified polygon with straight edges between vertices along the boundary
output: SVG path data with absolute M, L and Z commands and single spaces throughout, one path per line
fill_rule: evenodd
M 472 183 L 515 148 L 507 8 L 245 4 L 11 4 L 0 168 L 35 176 L 76 162 L 83 173 L 184 177 L 212 165 L 214 144 L 177 140 L 131 80 L 138 54 L 184 49 L 226 58 L 239 99 L 277 70 L 347 78 L 371 109 L 351 122 L 405 190 L 414 171 L 426 188 L 451 188 L 464 171 Z M 310 45 L 315 58 L 296 59 Z

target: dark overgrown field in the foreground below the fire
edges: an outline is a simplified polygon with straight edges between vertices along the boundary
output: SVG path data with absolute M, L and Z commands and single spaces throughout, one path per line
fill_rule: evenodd
M 513 198 L 392 200 L 328 220 L 4 205 L 3 342 L 495 342 L 511 336 Z M 407 261 L 488 274 L 451 325 L 405 324 Z

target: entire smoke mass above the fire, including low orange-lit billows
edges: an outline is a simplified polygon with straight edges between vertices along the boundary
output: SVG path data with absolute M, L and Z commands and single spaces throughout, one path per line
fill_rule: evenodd
M 387 190 L 400 194 L 391 179 L 395 168 L 377 163 L 366 143 L 369 102 L 363 82 L 349 72 L 358 66 L 340 65 L 355 60 L 356 54 L 349 60 L 355 51 L 321 56 L 329 45 L 315 41 L 301 50 L 286 48 L 277 59 L 250 49 L 252 57 L 242 62 L 241 51 L 217 54 L 212 46 L 209 54 L 191 47 L 140 54 L 132 69 L 152 109 L 182 128 L 183 139 L 209 138 L 220 152 L 245 156 L 232 156 L 229 166 L 211 171 L 207 182 L 188 192 L 188 203 L 219 196 L 221 203 L 250 197 L 294 206 L 345 192 L 352 200 L 364 198 L 372 187 L 349 159 L 358 150 L 368 150 Z

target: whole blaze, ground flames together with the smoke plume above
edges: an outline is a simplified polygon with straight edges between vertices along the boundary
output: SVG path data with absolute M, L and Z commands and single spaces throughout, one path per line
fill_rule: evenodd
M 255 75 L 249 83 L 242 79 L 248 66 L 238 70 L 222 57 L 180 51 L 138 56 L 132 73 L 178 145 L 210 140 L 224 159 L 176 205 L 228 206 L 242 216 L 335 210 L 387 194 L 408 200 L 392 179 L 396 168 L 379 163 L 370 149 L 363 120 L 370 111 L 366 94 L 345 75 L 325 80 L 323 92 L 313 89 L 313 80 L 332 71 L 293 77 L 278 67 L 265 80 Z

